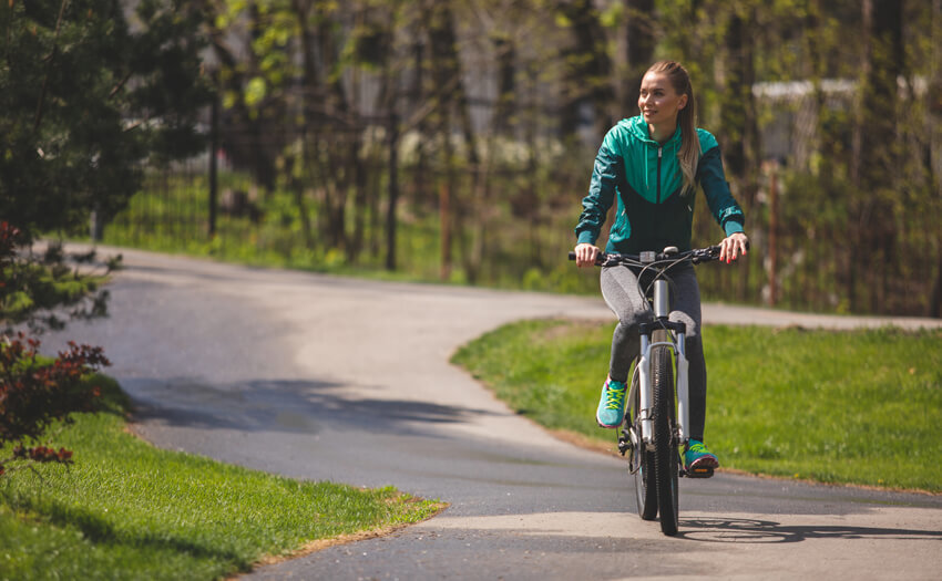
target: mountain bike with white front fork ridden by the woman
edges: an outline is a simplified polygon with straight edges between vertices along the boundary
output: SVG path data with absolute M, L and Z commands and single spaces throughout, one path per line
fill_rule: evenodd
M 680 459 L 680 450 L 690 439 L 687 330 L 683 322 L 668 320 L 672 283 L 667 272 L 687 261 L 698 264 L 718 258 L 719 247 L 711 246 L 684 252 L 667 247 L 659 253 L 646 251 L 637 256 L 601 252 L 595 259 L 598 267 L 638 269 L 638 284 L 653 312 L 653 320 L 639 328 L 641 352 L 632 372 L 618 452 L 622 456 L 628 454 L 638 515 L 654 520 L 659 512 L 661 530 L 668 536 L 676 535 L 678 528 L 678 479 L 709 478 L 714 470 L 688 473 Z M 570 260 L 575 260 L 575 252 L 570 252 Z

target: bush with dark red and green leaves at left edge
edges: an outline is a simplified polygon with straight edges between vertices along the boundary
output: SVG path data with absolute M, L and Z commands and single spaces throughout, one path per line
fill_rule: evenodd
M 101 347 L 72 342 L 54 360 L 40 357 L 40 341 L 14 331 L 17 326 L 33 333 L 61 329 L 62 308 L 71 309 L 72 319 L 106 313 L 107 293 L 98 289 L 103 276 L 65 266 L 61 246 L 50 246 L 38 259 L 20 251 L 27 243 L 28 237 L 18 228 L 0 222 L 0 448 L 13 444 L 12 455 L 0 458 L 0 476 L 11 466 L 71 461 L 71 450 L 57 450 L 38 440 L 53 422 L 68 423 L 73 412 L 95 408 L 99 390 L 85 377 L 110 364 Z M 113 266 L 107 266 L 109 271 Z

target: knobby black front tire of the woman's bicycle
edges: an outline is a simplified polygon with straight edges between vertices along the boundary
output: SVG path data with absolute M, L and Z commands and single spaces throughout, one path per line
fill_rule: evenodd
M 661 513 L 662 532 L 674 536 L 677 535 L 678 527 L 677 479 L 679 476 L 679 456 L 675 437 L 677 414 L 674 407 L 674 370 L 667 346 L 656 346 L 651 351 L 657 507 Z

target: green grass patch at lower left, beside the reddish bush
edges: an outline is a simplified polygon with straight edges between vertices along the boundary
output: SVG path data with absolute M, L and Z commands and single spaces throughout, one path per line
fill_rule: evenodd
M 74 465 L 0 477 L 0 579 L 216 579 L 440 509 L 392 488 L 297 481 L 154 448 L 124 432 L 109 385 L 110 412 L 78 415 L 52 440 L 74 450 Z

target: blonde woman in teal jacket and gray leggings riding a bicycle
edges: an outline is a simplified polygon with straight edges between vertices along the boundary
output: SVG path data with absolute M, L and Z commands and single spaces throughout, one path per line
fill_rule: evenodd
M 696 101 L 687 71 L 673 61 L 655 63 L 642 80 L 641 115 L 623 120 L 605 135 L 583 212 L 575 228 L 576 264 L 595 263 L 595 247 L 605 216 L 617 203 L 608 234 L 607 252 L 636 255 L 676 246 L 690 249 L 694 201 L 702 186 L 707 204 L 726 232 L 719 259 L 729 263 L 746 253 L 743 210 L 733 199 L 716 138 L 696 126 Z M 672 269 L 675 283 L 670 320 L 687 326 L 689 360 L 690 442 L 684 453 L 687 469 L 716 468 L 719 461 L 704 445 L 706 364 L 700 340 L 700 292 L 690 264 Z M 596 421 L 617 428 L 625 413 L 631 363 L 639 350 L 638 324 L 651 315 L 636 272 L 625 267 L 603 268 L 602 294 L 618 317 L 612 338 L 608 377 L 602 386 Z

